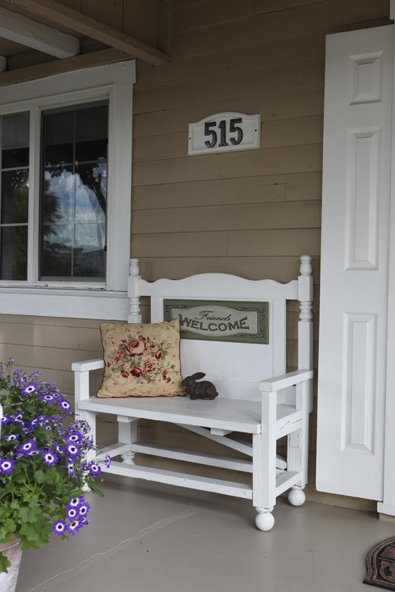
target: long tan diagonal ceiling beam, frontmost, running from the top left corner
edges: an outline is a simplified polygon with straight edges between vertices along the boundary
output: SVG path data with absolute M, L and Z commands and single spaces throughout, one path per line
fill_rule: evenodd
M 45 18 L 55 25 L 62 25 L 77 34 L 101 41 L 149 64 L 161 66 L 169 61 L 166 53 L 112 29 L 104 23 L 99 23 L 94 18 L 68 8 L 56 0 L 1 0 L 1 4 L 8 5 L 9 8 L 24 8 L 35 17 Z

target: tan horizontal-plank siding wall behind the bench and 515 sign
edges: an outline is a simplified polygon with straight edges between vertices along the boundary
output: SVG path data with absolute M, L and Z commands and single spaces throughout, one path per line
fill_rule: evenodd
M 152 45 L 158 39 L 156 1 L 64 3 Z M 143 277 L 219 271 L 287 282 L 298 256 L 311 254 L 318 321 L 325 35 L 387 24 L 388 13 L 387 0 L 173 0 L 173 60 L 161 68 L 139 62 L 134 97 L 132 254 Z M 188 157 L 188 123 L 233 110 L 261 114 L 261 149 Z M 290 367 L 297 318 L 290 306 Z M 0 358 L 43 368 L 71 394 L 71 361 L 100 355 L 98 324 L 2 315 Z M 314 412 L 309 497 L 374 508 L 315 492 L 315 426 Z M 99 433 L 106 441 L 113 432 L 104 422 Z M 141 432 L 200 445 L 178 428 L 145 424 Z

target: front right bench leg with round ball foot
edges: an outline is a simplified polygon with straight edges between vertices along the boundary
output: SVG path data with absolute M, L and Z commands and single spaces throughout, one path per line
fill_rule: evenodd
M 252 503 L 256 528 L 272 530 L 276 504 L 277 393 L 262 393 L 262 432 L 252 435 Z

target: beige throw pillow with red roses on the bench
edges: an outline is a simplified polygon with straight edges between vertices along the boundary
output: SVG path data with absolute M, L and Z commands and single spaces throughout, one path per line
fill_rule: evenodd
M 180 322 L 101 323 L 104 379 L 97 397 L 173 397 L 181 384 Z

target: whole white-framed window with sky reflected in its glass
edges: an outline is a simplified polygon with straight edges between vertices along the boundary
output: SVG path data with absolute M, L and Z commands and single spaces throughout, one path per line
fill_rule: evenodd
M 127 317 L 133 84 L 130 60 L 2 89 L 1 312 Z

